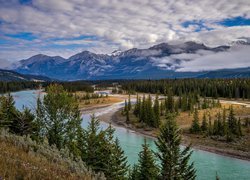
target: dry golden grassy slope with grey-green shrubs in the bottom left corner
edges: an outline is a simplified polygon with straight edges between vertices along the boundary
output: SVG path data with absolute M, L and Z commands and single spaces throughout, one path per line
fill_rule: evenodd
M 68 152 L 38 145 L 29 137 L 1 132 L 0 179 L 104 179 L 73 161 Z

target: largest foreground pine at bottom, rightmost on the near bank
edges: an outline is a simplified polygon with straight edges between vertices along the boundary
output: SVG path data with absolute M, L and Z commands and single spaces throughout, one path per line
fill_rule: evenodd
M 180 150 L 181 136 L 173 118 L 167 119 L 157 137 L 157 157 L 161 163 L 160 179 L 195 179 L 193 163 L 189 164 L 192 151 L 190 146 Z

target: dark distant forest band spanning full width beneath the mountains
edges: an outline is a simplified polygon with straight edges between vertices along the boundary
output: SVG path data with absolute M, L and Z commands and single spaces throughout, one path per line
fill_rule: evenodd
M 69 92 L 93 92 L 91 85 L 98 88 L 121 85 L 127 93 L 159 93 L 167 94 L 171 90 L 175 96 L 187 94 L 202 97 L 224 97 L 250 99 L 250 79 L 164 79 L 164 80 L 96 80 L 74 82 L 0 82 L 0 93 L 20 91 L 25 89 L 46 88 L 50 84 L 61 84 Z

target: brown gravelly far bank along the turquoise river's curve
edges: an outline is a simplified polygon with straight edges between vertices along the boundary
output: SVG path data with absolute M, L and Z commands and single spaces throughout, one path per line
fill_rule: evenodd
M 106 123 L 111 123 L 114 126 L 129 129 L 136 134 L 140 134 L 140 135 L 147 136 L 147 137 L 154 138 L 154 139 L 157 137 L 156 129 L 136 128 L 135 126 L 131 124 L 127 124 L 126 118 L 120 115 L 120 110 L 121 109 L 119 109 L 116 112 L 103 114 L 99 116 L 99 119 Z M 212 140 L 209 140 L 208 138 L 202 138 L 198 136 L 192 137 L 190 135 L 183 134 L 182 144 L 188 145 L 190 143 L 192 144 L 193 149 L 203 150 L 203 151 L 216 153 L 216 154 L 227 156 L 227 157 L 250 161 L 250 152 L 230 149 L 229 148 L 230 144 L 228 143 L 224 143 L 225 147 L 222 148 L 221 146 L 218 146 L 218 142 L 214 141 L 214 143 L 212 143 Z M 207 144 L 209 144 L 210 146 L 208 146 Z

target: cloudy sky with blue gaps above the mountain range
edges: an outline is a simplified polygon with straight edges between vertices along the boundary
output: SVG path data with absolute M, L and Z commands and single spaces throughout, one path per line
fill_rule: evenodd
M 249 37 L 250 0 L 0 0 L 2 67 L 40 53 L 68 58 L 188 40 L 214 47 Z

